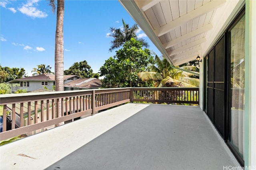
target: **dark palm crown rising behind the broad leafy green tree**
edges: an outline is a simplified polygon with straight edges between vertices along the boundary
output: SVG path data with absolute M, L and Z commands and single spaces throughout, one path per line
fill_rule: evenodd
M 136 36 L 137 31 L 139 30 L 139 27 L 137 24 L 132 25 L 132 27 L 129 28 L 129 24 L 123 22 L 123 28 L 115 28 L 110 27 L 110 35 L 109 37 L 114 37 L 114 40 L 111 41 L 111 46 L 109 51 L 112 52 L 114 49 L 120 48 L 126 41 L 130 41 L 131 38 L 135 38 L 136 40 L 142 42 L 142 46 L 148 48 L 148 43 L 143 38 L 138 38 Z

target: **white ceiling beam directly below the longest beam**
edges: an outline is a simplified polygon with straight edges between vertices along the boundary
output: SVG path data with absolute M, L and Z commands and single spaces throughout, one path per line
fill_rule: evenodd
M 199 35 L 201 33 L 206 32 L 206 31 L 209 31 L 212 28 L 213 28 L 212 24 L 209 23 L 209 24 L 207 24 L 207 25 L 205 25 L 203 27 L 200 27 L 198 29 L 195 29 L 194 31 L 191 31 L 191 32 L 186 33 L 186 34 L 184 34 L 184 35 L 182 35 L 182 36 L 180 36 L 180 37 L 178 37 L 176 39 L 173 39 L 172 41 L 164 43 L 163 46 L 164 46 L 165 49 L 170 48 L 170 47 L 180 43 L 181 41 L 184 41 L 186 39 L 189 39 L 191 37 L 194 37 L 196 35 Z

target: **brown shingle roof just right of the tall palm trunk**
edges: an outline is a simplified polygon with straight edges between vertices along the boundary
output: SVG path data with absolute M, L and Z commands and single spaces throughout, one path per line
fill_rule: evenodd
M 100 88 L 101 81 L 97 78 L 79 78 L 72 82 L 64 84 L 64 87 L 73 88 Z

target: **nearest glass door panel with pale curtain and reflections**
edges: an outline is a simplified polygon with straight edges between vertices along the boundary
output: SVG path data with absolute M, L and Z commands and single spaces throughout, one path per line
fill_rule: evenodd
M 230 29 L 230 144 L 244 158 L 245 16 Z

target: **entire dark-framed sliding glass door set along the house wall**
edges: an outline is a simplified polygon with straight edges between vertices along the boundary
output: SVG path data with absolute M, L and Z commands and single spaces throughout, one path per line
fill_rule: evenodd
M 245 10 L 204 58 L 204 111 L 244 164 Z

